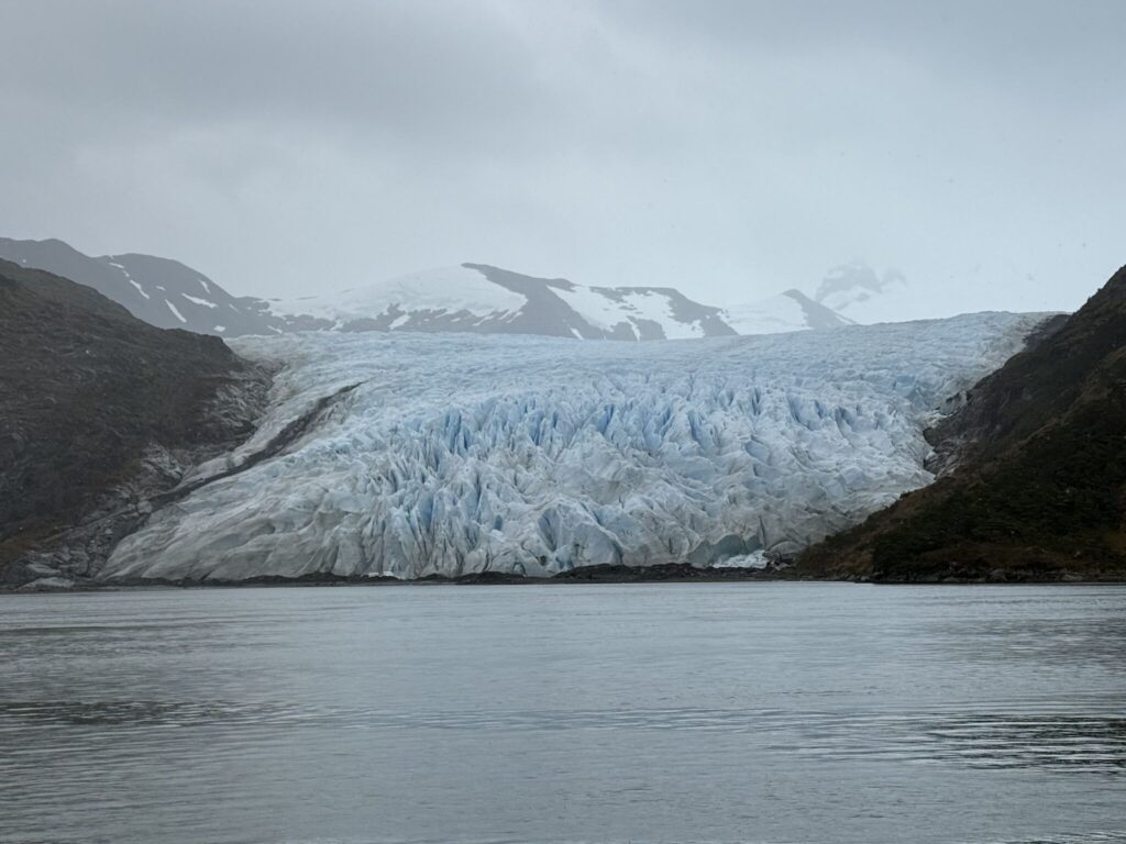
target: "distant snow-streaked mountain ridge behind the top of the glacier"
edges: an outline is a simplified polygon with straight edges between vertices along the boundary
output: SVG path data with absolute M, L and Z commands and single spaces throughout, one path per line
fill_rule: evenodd
M 232 296 L 164 258 L 91 258 L 57 240 L 0 239 L 0 258 L 93 287 L 163 329 L 225 338 L 293 331 L 540 334 L 582 340 L 663 340 L 774 333 L 847 323 L 796 290 L 731 308 L 669 287 L 584 287 L 465 263 L 292 300 Z

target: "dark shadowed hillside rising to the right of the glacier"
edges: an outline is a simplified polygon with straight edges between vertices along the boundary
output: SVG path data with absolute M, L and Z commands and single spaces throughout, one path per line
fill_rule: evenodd
M 1126 268 L 930 432 L 933 485 L 806 551 L 799 576 L 1126 577 Z

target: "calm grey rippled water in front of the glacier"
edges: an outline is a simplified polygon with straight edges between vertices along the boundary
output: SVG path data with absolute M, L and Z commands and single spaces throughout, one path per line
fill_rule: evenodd
M 1126 842 L 1126 587 L 0 595 L 2 842 Z

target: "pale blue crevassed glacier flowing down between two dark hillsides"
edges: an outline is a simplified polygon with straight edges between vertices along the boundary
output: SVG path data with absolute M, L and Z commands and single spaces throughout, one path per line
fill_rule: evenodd
M 102 576 L 544 575 L 794 551 L 930 481 L 926 423 L 1038 321 L 234 341 L 285 363 L 260 430 Z

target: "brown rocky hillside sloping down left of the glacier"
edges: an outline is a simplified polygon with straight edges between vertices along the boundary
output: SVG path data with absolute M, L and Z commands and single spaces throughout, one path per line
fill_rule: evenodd
M 187 467 L 249 436 L 268 374 L 0 261 L 0 581 L 92 574 Z

